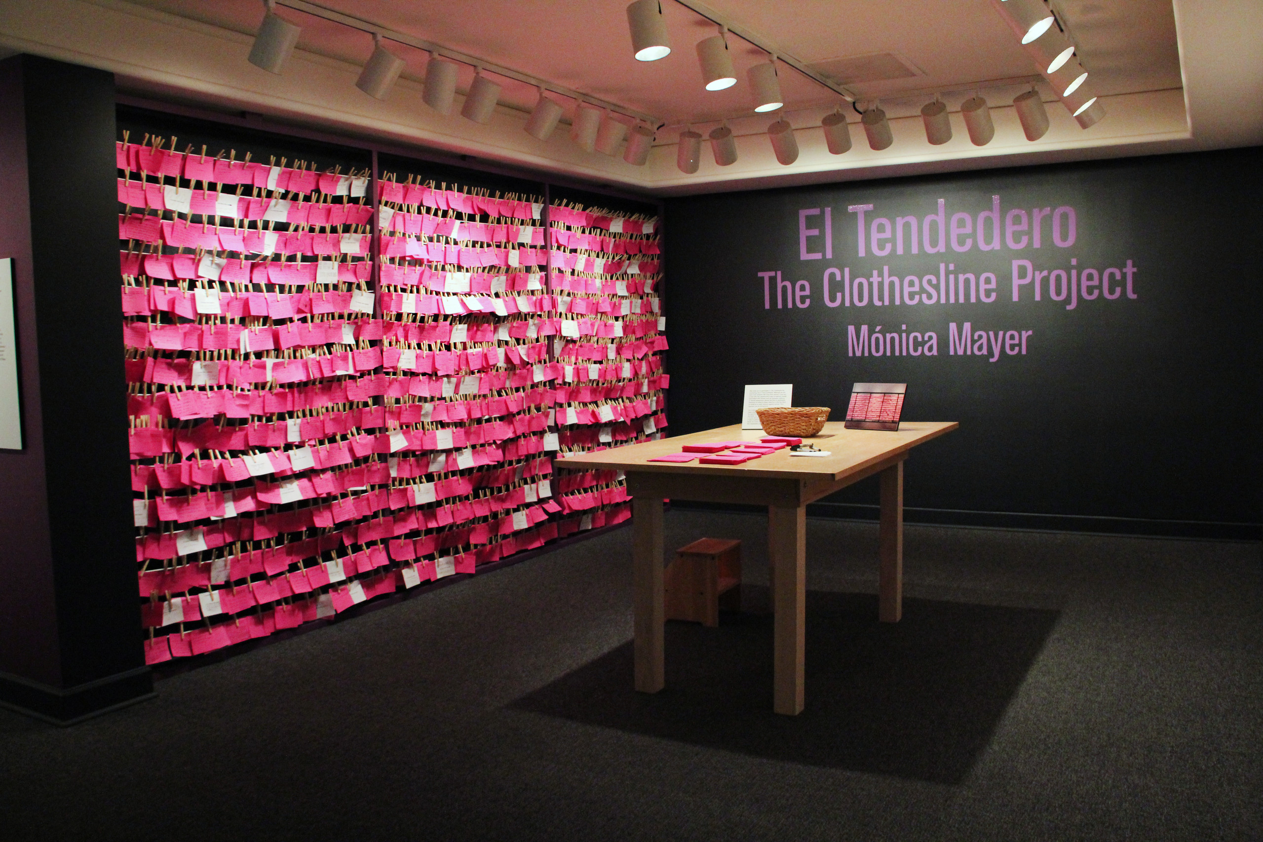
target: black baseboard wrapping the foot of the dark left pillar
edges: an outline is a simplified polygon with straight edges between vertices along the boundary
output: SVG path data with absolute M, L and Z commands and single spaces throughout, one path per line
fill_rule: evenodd
M 0 673 L 0 707 L 53 725 L 75 725 L 154 696 L 153 672 L 148 667 L 66 689 Z

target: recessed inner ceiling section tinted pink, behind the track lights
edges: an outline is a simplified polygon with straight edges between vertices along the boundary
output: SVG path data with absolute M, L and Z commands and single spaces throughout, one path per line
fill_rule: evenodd
M 263 15 L 259 0 L 136 0 L 153 9 L 253 34 Z M 706 122 L 751 114 L 745 69 L 767 61 L 758 47 L 729 37 L 738 85 L 706 91 L 693 44 L 716 33 L 692 9 L 663 0 L 672 53 L 657 62 L 632 57 L 623 0 L 474 0 L 464 4 L 416 0 L 321 0 L 331 11 L 434 42 L 489 62 L 591 93 L 668 124 Z M 993 80 L 1029 77 L 1034 68 L 990 0 L 709 0 L 725 19 L 806 63 L 895 52 L 925 76 L 853 85 L 865 98 L 901 91 L 962 90 Z M 341 24 L 285 8 L 303 28 L 299 48 L 362 64 L 371 39 Z M 1058 11 L 1080 45 L 1101 95 L 1178 88 L 1180 56 L 1171 0 L 1061 0 Z M 424 77 L 427 53 L 389 44 L 408 62 L 405 74 Z M 467 86 L 474 68 L 465 67 Z M 503 77 L 501 101 L 529 109 L 536 90 Z M 781 64 L 786 109 L 840 102 L 834 91 Z M 919 105 L 918 105 L 919 107 Z

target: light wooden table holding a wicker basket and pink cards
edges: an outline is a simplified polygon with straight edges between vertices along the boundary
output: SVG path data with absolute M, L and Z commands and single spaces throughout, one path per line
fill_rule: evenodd
M 633 497 L 635 688 L 657 693 L 664 684 L 663 499 L 768 507 L 775 629 L 773 707 L 777 713 L 794 716 L 803 706 L 807 504 L 864 477 L 882 475 L 879 616 L 884 622 L 898 622 L 903 611 L 903 461 L 917 444 L 957 427 L 956 422 L 904 422 L 898 432 L 889 433 L 845 429 L 841 422 L 831 422 L 825 424 L 820 437 L 805 439 L 830 451 L 831 456 L 798 457 L 778 451 L 736 466 L 648 460 L 677 453 L 685 444 L 758 441 L 762 430 L 743 430 L 734 424 L 558 458 L 556 466 L 560 468 L 626 473 L 628 492 Z

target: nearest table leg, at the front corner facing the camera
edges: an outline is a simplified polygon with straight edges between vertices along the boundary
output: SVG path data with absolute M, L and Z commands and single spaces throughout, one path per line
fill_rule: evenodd
M 807 507 L 768 506 L 768 535 L 775 612 L 773 709 L 797 716 L 803 706 Z

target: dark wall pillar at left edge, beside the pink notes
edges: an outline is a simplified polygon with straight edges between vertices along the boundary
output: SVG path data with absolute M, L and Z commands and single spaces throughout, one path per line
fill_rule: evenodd
M 69 722 L 152 693 L 130 525 L 114 77 L 0 62 L 0 249 L 25 449 L 0 451 L 0 703 Z

